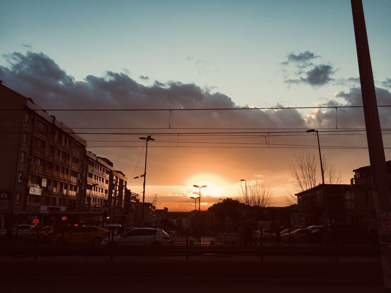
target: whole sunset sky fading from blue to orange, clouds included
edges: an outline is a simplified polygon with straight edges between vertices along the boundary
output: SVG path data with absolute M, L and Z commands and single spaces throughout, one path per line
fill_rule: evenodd
M 206 209 L 237 196 L 240 179 L 267 182 L 272 205 L 285 205 L 295 153 L 317 155 L 305 129 L 319 129 L 322 154 L 343 183 L 369 165 L 368 150 L 357 149 L 366 147 L 364 132 L 331 131 L 364 128 L 361 109 L 240 110 L 362 105 L 350 1 L 0 4 L 5 86 L 44 109 L 173 110 L 49 111 L 139 194 L 142 179 L 133 177 L 144 172 L 145 145 L 138 138 L 151 134 L 145 198 L 156 195 L 158 208 L 193 209 L 195 184 L 208 186 Z M 363 6 L 378 105 L 390 105 L 391 2 Z M 207 108 L 236 110 L 175 111 Z M 379 113 L 390 160 L 390 108 Z

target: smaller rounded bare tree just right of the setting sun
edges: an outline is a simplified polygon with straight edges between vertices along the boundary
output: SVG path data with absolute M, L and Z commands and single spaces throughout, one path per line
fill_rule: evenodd
M 246 193 L 247 184 L 247 193 Z M 267 207 L 273 199 L 272 191 L 265 180 L 252 179 L 241 183 L 239 187 L 239 202 L 255 207 Z

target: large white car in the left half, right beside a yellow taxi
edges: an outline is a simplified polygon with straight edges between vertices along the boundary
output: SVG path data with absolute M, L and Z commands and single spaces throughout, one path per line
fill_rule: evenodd
M 114 236 L 113 242 L 111 242 L 111 238 L 106 238 L 100 245 L 106 246 L 111 245 L 111 243 L 118 246 L 158 246 L 169 245 L 171 241 L 170 236 L 161 229 L 137 228 L 120 236 Z

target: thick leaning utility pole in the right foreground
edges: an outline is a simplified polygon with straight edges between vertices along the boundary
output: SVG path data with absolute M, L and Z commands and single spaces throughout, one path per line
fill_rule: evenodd
M 373 82 L 371 56 L 369 54 L 364 9 L 361 0 L 351 0 L 354 34 L 356 38 L 357 59 L 359 64 L 362 104 L 368 141 L 369 162 L 371 164 L 373 197 L 375 200 L 380 253 L 382 257 L 385 292 L 391 292 L 391 269 L 389 248 L 391 235 L 387 228 L 391 225 L 390 189 L 387 179 L 386 157 L 380 128 L 379 113 Z M 356 195 L 357 196 L 357 195 Z

